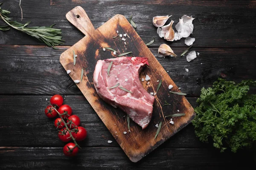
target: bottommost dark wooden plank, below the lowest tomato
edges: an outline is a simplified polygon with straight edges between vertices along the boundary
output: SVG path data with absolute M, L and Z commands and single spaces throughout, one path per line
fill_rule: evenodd
M 15 160 L 15 161 L 14 161 Z M 219 153 L 213 149 L 161 148 L 137 164 L 127 159 L 121 148 L 86 147 L 75 158 L 65 157 L 62 147 L 0 147 L 2 170 L 255 170 L 250 152 Z

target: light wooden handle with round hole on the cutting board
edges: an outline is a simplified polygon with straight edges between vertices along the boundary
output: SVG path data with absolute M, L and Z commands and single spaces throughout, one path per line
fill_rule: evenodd
M 81 6 L 77 6 L 69 11 L 66 14 L 66 18 L 86 36 L 90 36 L 95 31 L 93 24 Z

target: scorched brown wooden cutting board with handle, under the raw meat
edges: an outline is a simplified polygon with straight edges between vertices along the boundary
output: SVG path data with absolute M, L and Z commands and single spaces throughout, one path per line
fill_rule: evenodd
M 117 14 L 97 29 L 93 27 L 89 17 L 80 6 L 69 11 L 66 17 L 70 23 L 85 34 L 85 37 L 62 53 L 60 62 L 65 70 L 71 70 L 69 75 L 73 80 L 81 79 L 81 69 L 84 68 L 82 82 L 77 86 L 131 161 L 139 161 L 191 122 L 195 116 L 194 109 L 184 96 L 169 93 L 169 85 L 174 86 L 172 91 L 178 92 L 179 90 L 124 16 Z M 125 37 L 127 45 L 119 37 L 113 39 L 117 35 L 117 30 L 119 34 L 127 34 Z M 152 120 L 145 130 L 130 121 L 131 132 L 128 132 L 126 113 L 108 105 L 96 93 L 93 85 L 93 71 L 96 62 L 99 59 L 117 57 L 117 55 L 113 55 L 113 51 L 103 51 L 104 47 L 117 50 L 117 55 L 132 51 L 129 56 L 148 58 L 149 66 L 143 68 L 140 74 L 140 78 L 145 79 L 146 74 L 151 78 L 148 81 L 149 84 L 147 81 L 141 82 L 148 93 L 155 93 L 159 84 L 157 80 L 163 80 L 160 90 L 155 95 Z M 73 50 L 77 55 L 75 66 L 73 65 Z M 165 100 L 171 105 L 163 106 Z M 170 118 L 165 119 L 165 116 L 173 113 L 186 113 L 186 115 L 173 117 L 175 123 L 172 125 L 169 123 Z M 155 125 L 160 122 L 163 123 L 162 128 L 157 138 L 154 139 L 157 133 Z M 127 134 L 123 132 L 127 132 Z

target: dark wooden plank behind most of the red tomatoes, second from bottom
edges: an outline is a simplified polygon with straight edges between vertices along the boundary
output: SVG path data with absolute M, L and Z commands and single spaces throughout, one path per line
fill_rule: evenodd
M 49 119 L 44 114 L 50 97 L 0 96 L 0 136 L 3 136 L 0 138 L 0 146 L 64 146 L 64 142 L 58 139 L 54 119 Z M 194 107 L 196 99 L 188 98 Z M 64 104 L 70 105 L 73 113 L 80 117 L 81 125 L 87 129 L 87 139 L 79 142 L 81 147 L 119 147 L 84 96 L 64 96 Z M 113 143 L 108 144 L 108 140 L 112 140 Z M 189 125 L 168 140 L 164 147 L 212 146 L 201 143 L 195 137 L 194 127 Z

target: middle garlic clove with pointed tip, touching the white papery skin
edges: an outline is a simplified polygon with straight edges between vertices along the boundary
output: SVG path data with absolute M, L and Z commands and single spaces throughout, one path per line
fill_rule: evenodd
M 168 25 L 163 26 L 162 28 L 157 28 L 157 34 L 159 37 L 163 37 L 167 41 L 173 41 L 175 37 L 175 32 L 172 29 L 172 24 L 174 21 L 172 20 Z

